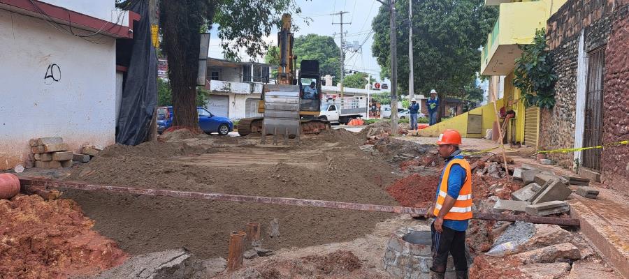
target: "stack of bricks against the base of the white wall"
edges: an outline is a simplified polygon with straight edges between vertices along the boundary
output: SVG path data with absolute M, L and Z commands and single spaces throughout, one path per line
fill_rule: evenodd
M 34 167 L 55 169 L 72 167 L 74 154 L 61 137 L 40 137 L 29 140 Z M 29 165 L 29 164 L 27 164 Z

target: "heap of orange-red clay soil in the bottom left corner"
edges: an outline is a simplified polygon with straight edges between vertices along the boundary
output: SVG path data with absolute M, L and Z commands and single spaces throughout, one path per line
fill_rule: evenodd
M 128 257 L 71 199 L 0 199 L 0 223 L 0 278 L 89 276 Z

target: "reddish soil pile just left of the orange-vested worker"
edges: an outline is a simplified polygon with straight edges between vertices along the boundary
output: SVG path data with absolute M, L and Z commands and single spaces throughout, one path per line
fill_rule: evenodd
M 386 188 L 402 206 L 428 208 L 435 202 L 439 176 L 412 174 Z

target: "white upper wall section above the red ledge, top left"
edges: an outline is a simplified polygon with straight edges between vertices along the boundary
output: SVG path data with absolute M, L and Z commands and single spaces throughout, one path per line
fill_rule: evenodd
M 84 15 L 96 17 L 108 22 L 116 22 L 112 19 L 112 11 L 116 9 L 115 0 L 39 0 L 51 5 L 73 10 Z M 125 21 L 126 22 L 126 21 Z

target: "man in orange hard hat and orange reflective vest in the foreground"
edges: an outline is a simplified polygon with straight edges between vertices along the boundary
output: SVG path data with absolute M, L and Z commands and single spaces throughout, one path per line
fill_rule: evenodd
M 431 278 L 444 278 L 450 254 L 454 259 L 456 278 L 464 279 L 468 278 L 465 229 L 468 229 L 468 221 L 472 218 L 472 170 L 458 149 L 461 134 L 456 130 L 444 130 L 437 144 L 445 167 L 437 188 L 435 205 L 426 212 L 427 218 L 435 218 L 431 225 Z

